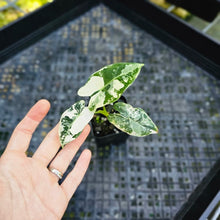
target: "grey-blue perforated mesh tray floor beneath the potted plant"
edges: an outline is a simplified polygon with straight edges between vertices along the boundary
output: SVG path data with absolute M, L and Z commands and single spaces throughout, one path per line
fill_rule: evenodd
M 172 219 L 220 156 L 220 82 L 103 5 L 0 66 L 1 151 L 29 107 L 47 98 L 33 154 L 88 76 L 121 61 L 145 63 L 125 96 L 160 134 L 103 148 L 89 136 L 92 162 L 63 219 Z

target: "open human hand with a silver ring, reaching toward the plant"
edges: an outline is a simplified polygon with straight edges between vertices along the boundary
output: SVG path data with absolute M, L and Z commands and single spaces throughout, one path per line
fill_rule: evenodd
M 60 141 L 57 125 L 48 133 L 33 157 L 26 156 L 32 134 L 49 108 L 48 101 L 40 100 L 30 109 L 15 128 L 0 158 L 0 219 L 61 219 L 88 168 L 91 159 L 89 150 L 82 152 L 61 185 L 58 184 L 59 178 L 47 168 L 52 161 L 51 168 L 62 173 L 66 171 L 89 134 L 88 125 L 77 139 L 58 154 Z

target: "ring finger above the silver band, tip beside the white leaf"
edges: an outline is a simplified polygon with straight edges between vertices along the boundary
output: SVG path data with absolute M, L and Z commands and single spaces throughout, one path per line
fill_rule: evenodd
M 61 172 L 63 174 L 67 170 L 70 162 L 72 161 L 73 157 L 75 156 L 75 154 L 79 150 L 80 146 L 85 141 L 85 139 L 88 136 L 89 132 L 90 132 L 90 126 L 87 125 L 78 138 L 76 138 L 71 143 L 67 144 L 56 155 L 56 157 L 50 163 L 49 169 L 50 170 L 51 169 L 56 169 L 56 170 L 58 170 L 59 172 Z M 59 179 L 59 177 L 56 174 L 54 174 L 54 176 L 56 176 L 56 178 Z

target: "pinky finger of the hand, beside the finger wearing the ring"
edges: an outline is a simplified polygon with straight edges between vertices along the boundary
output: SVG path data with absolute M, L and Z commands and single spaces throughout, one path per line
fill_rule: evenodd
M 86 149 L 80 155 L 73 170 L 68 174 L 68 176 L 61 184 L 61 187 L 66 194 L 68 200 L 71 199 L 77 187 L 81 183 L 86 173 L 86 170 L 88 169 L 90 160 L 91 151 Z

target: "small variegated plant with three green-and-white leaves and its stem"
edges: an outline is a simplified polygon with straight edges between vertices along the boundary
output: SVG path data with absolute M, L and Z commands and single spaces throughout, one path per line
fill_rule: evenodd
M 61 116 L 59 126 L 61 146 L 77 138 L 96 113 L 106 116 L 110 123 L 129 135 L 142 137 L 157 133 L 157 126 L 144 110 L 116 102 L 135 81 L 142 66 L 140 63 L 115 63 L 92 74 L 87 83 L 78 90 L 79 96 L 90 97 L 88 106 L 81 100 Z M 115 113 L 106 111 L 105 106 L 111 103 L 115 103 L 113 105 Z M 103 110 L 100 110 L 101 107 Z

